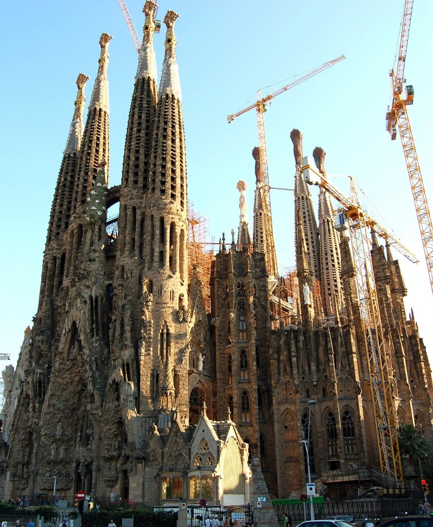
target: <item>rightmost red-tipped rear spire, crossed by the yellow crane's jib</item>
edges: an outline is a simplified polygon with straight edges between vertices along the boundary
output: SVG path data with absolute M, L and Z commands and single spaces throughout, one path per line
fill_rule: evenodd
M 326 177 L 324 158 L 326 152 L 316 147 L 314 161 L 319 172 Z M 334 229 L 334 210 L 329 193 L 320 187 L 319 194 L 319 232 L 320 232 L 320 286 L 322 305 L 326 314 L 341 312 L 344 306 L 341 284 L 341 256 L 338 231 Z

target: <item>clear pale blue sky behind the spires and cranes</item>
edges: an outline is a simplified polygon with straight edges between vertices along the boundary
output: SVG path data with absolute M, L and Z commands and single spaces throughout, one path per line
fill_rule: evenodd
M 144 1 L 127 0 L 140 35 Z M 415 252 L 410 264 L 397 252 L 408 297 L 433 362 L 433 295 L 399 138 L 385 130 L 390 102 L 389 70 L 398 44 L 403 0 L 172 0 L 160 2 L 157 18 L 179 13 L 175 25 L 186 133 L 188 192 L 194 209 L 209 219 L 210 241 L 239 223 L 239 179 L 248 183 L 252 222 L 255 113 L 230 125 L 227 115 L 277 90 L 320 64 L 346 60 L 276 97 L 265 114 L 269 180 L 293 188 L 290 131 L 303 134 L 304 155 L 320 146 L 329 174 L 352 174 L 367 198 L 361 202 L 382 225 Z M 24 330 L 36 313 L 41 266 L 58 170 L 71 123 L 76 77 L 90 77 L 90 100 L 99 58 L 99 37 L 110 33 L 110 184 L 121 181 L 127 116 L 137 63 L 131 36 L 116 0 L 0 5 L 3 103 L 0 127 L 4 202 L 2 352 L 15 364 Z M 415 88 L 409 108 L 430 208 L 431 27 L 433 2 L 415 0 L 405 76 Z M 159 75 L 165 27 L 155 35 Z M 334 184 L 349 193 L 349 183 Z M 316 192 L 313 191 L 314 196 Z M 317 203 L 316 197 L 314 197 Z M 280 270 L 294 266 L 293 193 L 271 191 Z M 6 365 L 6 363 L 4 363 Z

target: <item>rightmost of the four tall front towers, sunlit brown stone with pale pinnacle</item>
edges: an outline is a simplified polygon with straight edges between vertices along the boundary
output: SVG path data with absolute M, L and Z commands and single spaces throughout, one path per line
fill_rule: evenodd
M 158 92 L 152 136 L 149 184 L 146 189 L 144 232 L 144 293 L 141 344 L 141 413 L 170 426 L 175 406 L 188 420 L 188 238 L 185 137 L 178 65 L 175 58 L 174 23 L 169 11 L 165 57 Z M 174 383 L 174 384 L 173 384 Z M 174 397 L 174 386 L 183 387 Z M 156 413 L 156 414 L 155 414 Z

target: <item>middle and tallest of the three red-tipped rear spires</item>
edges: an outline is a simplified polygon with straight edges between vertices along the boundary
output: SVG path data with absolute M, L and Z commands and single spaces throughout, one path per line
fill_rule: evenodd
M 290 139 L 293 143 L 293 154 L 296 164 L 294 200 L 295 218 L 298 218 L 298 210 L 301 212 L 300 221 L 303 224 L 303 233 L 307 245 L 308 262 L 312 275 L 320 280 L 319 272 L 319 229 L 317 228 L 316 216 L 314 214 L 313 203 L 311 200 L 308 184 L 302 179 L 302 134 L 299 130 L 292 130 Z M 296 230 L 298 236 L 298 230 Z M 299 247 L 298 241 L 296 246 Z

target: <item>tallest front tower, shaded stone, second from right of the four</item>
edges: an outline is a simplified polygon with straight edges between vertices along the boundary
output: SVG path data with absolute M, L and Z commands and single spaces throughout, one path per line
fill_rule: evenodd
M 134 91 L 126 130 L 123 157 L 120 207 L 116 252 L 109 255 L 107 265 L 113 280 L 111 346 L 113 357 L 123 373 L 133 404 L 129 411 L 139 410 L 141 386 L 140 361 L 137 350 L 142 338 L 143 268 L 145 264 L 146 192 L 152 132 L 158 100 L 156 60 L 153 50 L 156 3 L 148 0 L 143 8 L 145 22 L 143 42 L 134 81 Z M 112 270 L 114 267 L 115 270 Z M 145 291 L 147 294 L 147 290 Z M 130 431 L 132 440 L 134 428 Z

